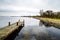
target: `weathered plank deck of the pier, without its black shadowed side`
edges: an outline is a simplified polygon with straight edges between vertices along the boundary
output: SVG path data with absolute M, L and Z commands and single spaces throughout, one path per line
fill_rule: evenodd
M 9 26 L 0 29 L 0 40 L 6 39 L 11 33 L 13 33 L 15 30 L 21 29 L 23 26 L 24 26 L 24 22 L 21 21 L 18 21 L 11 25 L 9 22 Z

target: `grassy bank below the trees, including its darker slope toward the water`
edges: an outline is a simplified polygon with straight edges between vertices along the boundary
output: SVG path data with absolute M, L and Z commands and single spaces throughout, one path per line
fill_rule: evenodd
M 54 27 L 60 28 L 60 19 L 58 18 L 48 18 L 48 17 L 33 17 L 39 20 L 43 20 L 53 25 Z

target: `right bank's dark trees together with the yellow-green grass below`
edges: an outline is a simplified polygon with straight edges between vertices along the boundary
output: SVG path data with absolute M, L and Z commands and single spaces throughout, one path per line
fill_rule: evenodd
M 60 28 L 60 12 L 53 12 L 51 10 L 47 10 L 45 12 L 40 12 L 40 17 L 35 17 L 39 20 L 43 20 L 44 22 L 48 22 L 49 25 Z

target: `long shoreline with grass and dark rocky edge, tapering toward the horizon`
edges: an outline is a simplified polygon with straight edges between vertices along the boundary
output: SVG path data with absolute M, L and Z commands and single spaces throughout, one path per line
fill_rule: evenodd
M 22 17 L 35 18 L 44 22 L 43 24 L 46 26 L 54 26 L 60 29 L 60 19 L 58 18 L 48 18 L 48 17 L 41 17 L 41 16 L 22 16 Z

